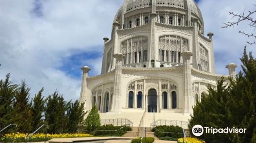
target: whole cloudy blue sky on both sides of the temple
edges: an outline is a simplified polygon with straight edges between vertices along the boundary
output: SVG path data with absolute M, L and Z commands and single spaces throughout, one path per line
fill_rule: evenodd
M 204 17 L 205 34 L 214 33 L 217 74 L 228 74 L 225 65 L 241 64 L 246 36 L 255 33 L 247 22 L 222 29 L 232 21 L 230 11 L 255 10 L 254 0 L 196 1 Z M 31 97 L 42 87 L 48 96 L 55 90 L 68 100 L 79 99 L 81 67 L 89 76 L 100 74 L 103 37 L 111 37 L 112 22 L 123 0 L 0 0 L 0 79 L 25 80 Z M 255 16 L 255 15 L 254 15 Z M 247 45 L 256 57 L 256 45 Z M 237 71 L 241 70 L 239 67 Z

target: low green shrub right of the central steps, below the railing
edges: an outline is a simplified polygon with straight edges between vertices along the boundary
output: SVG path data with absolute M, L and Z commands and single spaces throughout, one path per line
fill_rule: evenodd
M 156 126 L 152 129 L 156 137 L 173 137 L 173 138 L 181 138 L 183 137 L 183 130 L 179 126 Z M 167 133 L 171 132 L 171 133 Z M 180 133 L 180 134 L 178 134 Z

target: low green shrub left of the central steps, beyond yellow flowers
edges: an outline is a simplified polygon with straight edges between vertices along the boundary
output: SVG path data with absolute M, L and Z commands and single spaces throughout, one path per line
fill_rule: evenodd
M 122 129 L 120 129 L 120 128 L 122 128 Z M 118 130 L 118 131 L 116 131 L 116 130 Z M 132 128 L 129 126 L 114 126 L 111 124 L 111 125 L 100 126 L 93 133 L 94 133 L 94 135 L 122 136 L 126 133 L 126 131 L 132 131 Z

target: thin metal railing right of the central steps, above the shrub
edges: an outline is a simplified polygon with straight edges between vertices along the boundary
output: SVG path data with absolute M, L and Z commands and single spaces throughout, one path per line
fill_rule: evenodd
M 166 126 L 180 126 L 183 129 L 188 129 L 188 122 L 185 121 L 175 121 L 175 120 L 157 120 L 153 123 L 150 124 L 151 129 L 156 127 L 156 126 L 161 126 L 161 125 L 166 125 Z

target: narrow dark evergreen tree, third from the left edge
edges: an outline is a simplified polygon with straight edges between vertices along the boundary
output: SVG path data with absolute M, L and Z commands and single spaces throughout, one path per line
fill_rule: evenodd
M 42 88 L 33 98 L 33 106 L 32 106 L 32 121 L 33 121 L 33 131 L 38 129 L 42 124 L 42 113 L 45 110 L 45 100 L 42 96 L 42 92 L 44 91 L 44 88 Z M 40 132 L 40 131 L 39 131 Z

